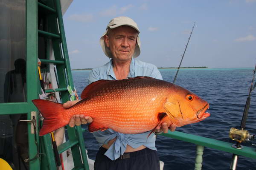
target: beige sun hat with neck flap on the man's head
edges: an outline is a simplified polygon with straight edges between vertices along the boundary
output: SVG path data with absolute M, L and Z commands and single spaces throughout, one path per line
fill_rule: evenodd
M 99 44 L 101 45 L 103 52 L 109 58 L 112 58 L 112 54 L 111 54 L 110 49 L 105 45 L 104 36 L 107 34 L 109 28 L 113 29 L 113 28 L 116 28 L 119 26 L 130 26 L 130 27 L 136 29 L 138 31 L 138 34 L 140 33 L 137 23 L 135 23 L 134 20 L 132 20 L 129 17 L 116 17 L 116 18 L 113 18 L 112 20 L 110 20 L 105 33 L 99 39 Z M 136 44 L 136 47 L 134 50 L 133 57 L 138 57 L 139 55 L 140 55 L 140 37 L 138 35 L 137 36 L 137 44 Z

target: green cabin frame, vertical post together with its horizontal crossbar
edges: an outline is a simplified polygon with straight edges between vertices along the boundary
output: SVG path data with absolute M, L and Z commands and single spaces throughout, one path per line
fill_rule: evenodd
M 35 0 L 26 0 L 26 88 L 29 89 L 27 91 L 27 102 L 0 103 L 0 115 L 27 113 L 28 120 L 30 120 L 31 112 L 37 111 L 37 108 L 31 102 L 32 99 L 38 98 L 38 88 L 35 88 L 38 83 L 37 20 L 37 2 Z M 38 116 L 36 119 L 38 119 Z M 32 159 L 37 154 L 37 146 L 35 144 L 35 134 L 30 133 L 30 124 L 28 123 L 29 159 Z M 36 139 L 39 141 L 38 136 L 36 136 Z M 30 169 L 38 169 L 39 166 L 40 161 L 38 158 L 29 161 Z

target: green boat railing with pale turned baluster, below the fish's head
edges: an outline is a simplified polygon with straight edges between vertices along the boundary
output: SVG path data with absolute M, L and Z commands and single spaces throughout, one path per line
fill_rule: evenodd
M 174 132 L 169 131 L 168 133 L 161 133 L 160 135 L 166 136 L 172 139 L 178 139 L 184 142 L 190 142 L 190 143 L 196 144 L 197 155 L 195 157 L 195 170 L 202 169 L 204 147 L 209 147 L 212 149 L 222 150 L 224 152 L 234 153 L 236 155 L 256 159 L 256 150 L 253 147 L 244 146 L 242 149 L 236 149 L 232 147 L 234 143 L 224 142 L 216 139 L 196 136 L 189 133 L 183 133 L 178 131 L 174 131 Z

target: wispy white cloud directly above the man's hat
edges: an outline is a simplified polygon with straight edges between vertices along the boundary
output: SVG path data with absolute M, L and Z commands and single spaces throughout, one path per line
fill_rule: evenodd
M 116 5 L 111 6 L 110 8 L 106 9 L 105 11 L 100 12 L 100 16 L 102 17 L 112 17 L 116 16 L 117 14 L 124 14 L 127 12 L 133 5 L 129 4 L 128 6 L 117 7 Z

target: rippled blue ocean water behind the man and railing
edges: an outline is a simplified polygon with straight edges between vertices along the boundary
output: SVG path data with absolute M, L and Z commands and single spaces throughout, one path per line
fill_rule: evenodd
M 176 71 L 176 69 L 160 69 L 163 79 L 169 82 L 173 81 Z M 89 73 L 90 71 L 72 71 L 79 96 L 84 87 L 88 85 Z M 209 102 L 208 112 L 211 113 L 211 116 L 202 122 L 177 127 L 176 130 L 225 142 L 233 142 L 229 138 L 229 130 L 230 127 L 240 127 L 252 78 L 253 68 L 180 69 L 175 84 L 192 91 Z M 255 127 L 256 91 L 253 91 L 246 129 L 256 134 Z M 89 132 L 84 133 L 84 141 L 89 158 L 95 159 L 99 144 Z M 251 143 L 243 145 L 251 146 Z M 157 136 L 156 147 L 160 160 L 165 164 L 164 170 L 194 170 L 195 144 Z M 202 169 L 227 170 L 231 160 L 231 153 L 205 147 Z M 256 159 L 239 156 L 237 170 L 255 169 Z

